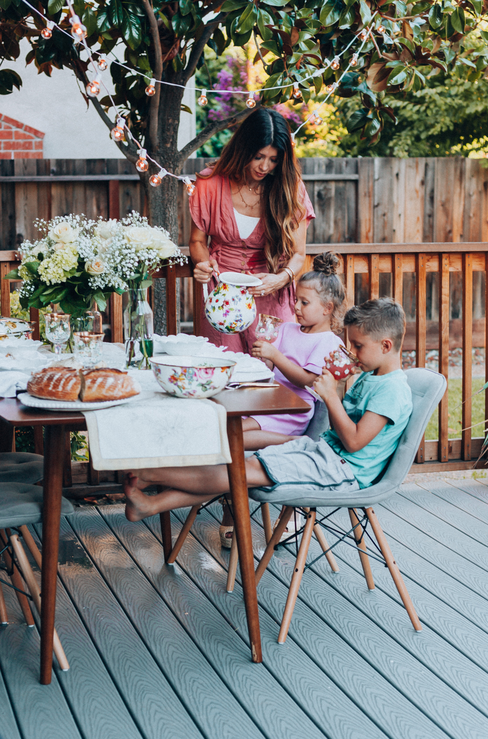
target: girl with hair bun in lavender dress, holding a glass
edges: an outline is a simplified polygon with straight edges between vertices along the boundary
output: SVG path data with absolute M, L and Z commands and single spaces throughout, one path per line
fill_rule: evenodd
M 282 444 L 301 436 L 314 414 L 312 387 L 322 374 L 324 358 L 343 344 L 336 333 L 343 328 L 346 310 L 343 283 L 337 275 L 339 258 L 329 251 L 316 256 L 313 272 L 298 280 L 295 290 L 297 323 L 281 324 L 274 344 L 255 341 L 252 356 L 263 358 L 274 369 L 280 384 L 289 387 L 310 403 L 310 410 L 298 415 L 250 416 L 243 419 L 245 449 L 255 451 Z

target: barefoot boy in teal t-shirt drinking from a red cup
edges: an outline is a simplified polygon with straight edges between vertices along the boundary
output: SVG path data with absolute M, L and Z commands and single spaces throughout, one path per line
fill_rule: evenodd
M 292 437 L 281 446 L 267 446 L 249 457 L 247 485 L 258 488 L 252 491 L 256 500 L 283 503 L 281 486 L 299 484 L 304 492 L 315 490 L 317 498 L 323 500 L 321 505 L 327 505 L 328 496 L 337 498 L 342 492 L 371 485 L 394 453 L 412 412 L 400 354 L 405 313 L 390 298 L 368 300 L 348 310 L 344 325 L 362 375 L 341 402 L 337 381 L 323 367 L 314 387 L 326 403 L 332 429 L 317 442 L 306 436 Z M 146 496 L 142 488 L 151 483 L 171 488 Z M 125 485 L 126 517 L 137 521 L 205 503 L 228 491 L 224 465 L 130 471 Z M 296 494 L 293 497 L 296 500 Z

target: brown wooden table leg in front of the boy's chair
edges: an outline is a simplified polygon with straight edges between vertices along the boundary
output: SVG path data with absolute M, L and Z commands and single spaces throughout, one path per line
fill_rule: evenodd
M 233 502 L 233 517 L 237 534 L 237 548 L 239 564 L 241 566 L 242 589 L 244 590 L 244 604 L 246 606 L 252 661 L 262 662 L 258 593 L 256 593 L 254 556 L 252 555 L 251 519 L 249 513 L 249 497 L 247 496 L 242 419 L 240 416 L 227 418 L 227 436 L 229 438 L 230 455 L 232 457 L 232 463 L 227 465 L 227 472 L 229 474 L 230 493 Z

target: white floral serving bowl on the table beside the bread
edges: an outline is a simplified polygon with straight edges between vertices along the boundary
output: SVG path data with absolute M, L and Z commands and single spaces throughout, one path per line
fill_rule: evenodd
M 163 356 L 150 360 L 162 389 L 176 398 L 211 398 L 230 381 L 236 362 L 218 357 Z

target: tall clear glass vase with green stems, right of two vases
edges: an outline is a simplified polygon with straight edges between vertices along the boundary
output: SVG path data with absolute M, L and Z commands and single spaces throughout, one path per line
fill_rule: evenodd
M 149 357 L 153 355 L 154 320 L 147 295 L 147 289 L 128 290 L 128 304 L 123 316 L 126 367 L 151 369 Z

